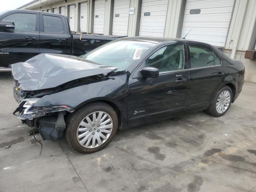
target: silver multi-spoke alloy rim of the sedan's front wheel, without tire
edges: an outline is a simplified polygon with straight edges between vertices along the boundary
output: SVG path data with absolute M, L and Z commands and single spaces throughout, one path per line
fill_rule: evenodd
M 77 140 L 85 148 L 95 148 L 108 140 L 113 129 L 113 121 L 103 111 L 87 115 L 77 128 Z

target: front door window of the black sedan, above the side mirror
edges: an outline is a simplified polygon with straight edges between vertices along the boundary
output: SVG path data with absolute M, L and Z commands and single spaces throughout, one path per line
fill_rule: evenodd
M 182 70 L 184 67 L 183 45 L 160 48 L 146 60 L 146 67 L 158 68 L 159 72 Z

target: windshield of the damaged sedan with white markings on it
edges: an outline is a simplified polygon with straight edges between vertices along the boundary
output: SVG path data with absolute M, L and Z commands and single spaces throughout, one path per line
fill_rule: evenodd
M 114 41 L 83 55 L 82 58 L 94 63 L 118 67 L 118 70 L 125 70 L 154 45 L 156 43 L 147 41 Z

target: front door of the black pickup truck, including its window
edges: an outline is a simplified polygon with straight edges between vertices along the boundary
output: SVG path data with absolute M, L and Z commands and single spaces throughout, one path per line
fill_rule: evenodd
M 0 18 L 15 28 L 0 30 L 0 67 L 24 62 L 39 53 L 39 14 L 10 12 Z

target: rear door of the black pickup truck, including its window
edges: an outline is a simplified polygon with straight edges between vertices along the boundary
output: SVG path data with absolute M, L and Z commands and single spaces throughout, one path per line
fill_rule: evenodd
M 71 54 L 69 34 L 64 16 L 40 14 L 40 53 Z

